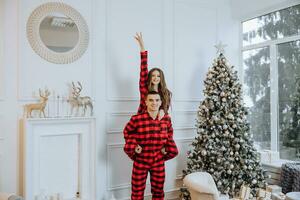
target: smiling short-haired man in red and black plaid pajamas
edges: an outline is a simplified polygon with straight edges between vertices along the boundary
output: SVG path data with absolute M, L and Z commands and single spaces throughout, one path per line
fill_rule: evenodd
M 150 172 L 153 200 L 164 199 L 165 161 L 178 154 L 173 140 L 171 118 L 158 120 L 161 98 L 158 92 L 146 95 L 147 111 L 131 117 L 124 129 L 125 153 L 134 161 L 131 179 L 131 199 L 143 200 Z

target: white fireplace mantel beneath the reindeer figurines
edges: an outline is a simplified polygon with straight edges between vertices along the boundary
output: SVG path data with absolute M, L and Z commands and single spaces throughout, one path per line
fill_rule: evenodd
M 23 120 L 23 195 L 95 200 L 95 119 Z

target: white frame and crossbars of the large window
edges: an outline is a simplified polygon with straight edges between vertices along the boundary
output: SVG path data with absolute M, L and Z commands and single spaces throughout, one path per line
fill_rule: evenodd
M 262 48 L 262 47 L 269 47 L 270 49 L 270 119 L 271 119 L 271 150 L 272 151 L 279 151 L 279 128 L 278 128 L 278 63 L 277 63 L 277 46 L 282 43 L 287 43 L 287 42 L 293 42 L 296 40 L 300 40 L 300 35 L 295 35 L 295 36 L 289 36 L 289 37 L 284 37 L 276 40 L 270 40 L 270 41 L 265 41 L 261 42 L 259 44 L 253 44 L 253 45 L 246 45 L 243 47 L 243 27 L 242 24 L 245 21 L 248 21 L 250 19 L 266 15 L 271 12 L 275 12 L 281 9 L 285 9 L 291 6 L 298 5 L 299 1 L 292 1 L 288 5 L 280 5 L 277 7 L 273 7 L 272 9 L 265 9 L 264 11 L 259 11 L 252 15 L 252 17 L 248 17 L 245 19 L 242 19 L 239 24 L 239 30 L 240 30 L 240 60 L 239 60 L 239 66 L 240 66 L 240 77 L 241 77 L 241 83 L 244 83 L 244 66 L 243 66 L 243 51 L 246 50 L 253 50 L 257 48 Z

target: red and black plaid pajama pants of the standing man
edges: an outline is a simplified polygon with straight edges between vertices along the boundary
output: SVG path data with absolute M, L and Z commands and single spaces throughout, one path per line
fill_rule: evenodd
M 131 177 L 131 200 L 143 200 L 148 172 L 152 200 L 164 200 L 165 161 L 161 158 L 152 163 L 134 161 Z

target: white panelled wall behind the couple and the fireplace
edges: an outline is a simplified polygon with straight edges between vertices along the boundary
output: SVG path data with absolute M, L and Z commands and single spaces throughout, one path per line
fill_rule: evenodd
M 139 50 L 133 35 L 141 31 L 150 66 L 164 70 L 174 94 L 171 114 L 180 155 L 167 162 L 165 190 L 167 196 L 176 195 L 173 192 L 181 185 L 176 177 L 185 166 L 185 151 L 195 134 L 203 79 L 219 40 L 228 44 L 230 63 L 238 65 L 238 22 L 232 19 L 229 1 L 65 0 L 83 15 L 91 33 L 86 53 L 68 65 L 46 62 L 34 53 L 26 38 L 28 16 L 47 1 L 4 2 L 0 191 L 21 191 L 18 123 L 22 105 L 33 100 L 39 87 L 65 94 L 67 83 L 80 80 L 85 94 L 95 100 L 97 199 L 111 193 L 117 198 L 129 196 L 131 162 L 122 151 L 122 129 L 138 107 Z

